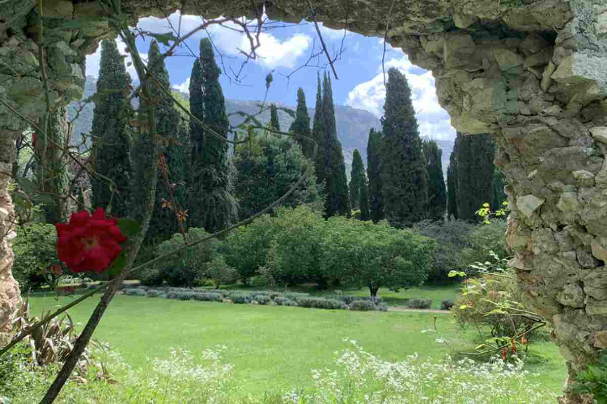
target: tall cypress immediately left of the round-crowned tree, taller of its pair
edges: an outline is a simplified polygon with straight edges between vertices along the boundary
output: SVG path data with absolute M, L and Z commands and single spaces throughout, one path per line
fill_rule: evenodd
M 237 217 L 236 199 L 228 172 L 228 114 L 219 84 L 221 70 L 215 62 L 211 41 L 200 41 L 200 58 L 194 62 L 190 78 L 190 110 L 220 138 L 197 122 L 190 122 L 192 177 L 189 184 L 189 222 L 209 233 L 232 224 Z

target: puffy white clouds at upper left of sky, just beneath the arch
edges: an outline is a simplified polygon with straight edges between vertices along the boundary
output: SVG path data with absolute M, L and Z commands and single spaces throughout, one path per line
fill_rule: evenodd
M 171 25 L 177 29 L 180 26 L 179 12 L 169 16 Z M 203 24 L 203 19 L 199 16 L 183 15 L 181 16 L 181 33 L 188 33 Z M 137 24 L 137 27 L 152 32 L 166 32 L 171 30 L 171 25 L 166 18 L 143 18 Z M 254 25 L 249 25 L 249 29 L 254 30 Z M 200 39 L 207 35 L 211 36 L 215 46 L 222 53 L 228 56 L 242 55 L 241 50 L 249 53 L 251 43 L 246 35 L 239 32 L 242 28 L 233 22 L 226 22 L 222 25 L 211 25 L 207 31 L 201 30 L 195 33 L 194 39 Z M 268 68 L 286 67 L 293 68 L 297 63 L 297 58 L 302 56 L 310 46 L 312 38 L 305 34 L 295 34 L 287 39 L 279 39 L 270 33 L 263 32 L 259 36 L 260 47 L 256 53 L 259 56 L 256 62 L 265 65 Z M 197 53 L 197 49 L 194 49 Z

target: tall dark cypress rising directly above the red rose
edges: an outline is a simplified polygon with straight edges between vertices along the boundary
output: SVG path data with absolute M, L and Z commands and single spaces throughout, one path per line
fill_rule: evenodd
M 92 205 L 107 207 L 111 214 L 123 217 L 129 213 L 131 189 L 131 130 L 133 116 L 128 100 L 131 76 L 115 41 L 101 42 L 101 62 L 97 81 L 97 99 L 93 113 L 92 166 L 101 176 L 92 176 Z M 104 179 L 114 182 L 113 187 Z M 114 196 L 112 197 L 112 193 Z

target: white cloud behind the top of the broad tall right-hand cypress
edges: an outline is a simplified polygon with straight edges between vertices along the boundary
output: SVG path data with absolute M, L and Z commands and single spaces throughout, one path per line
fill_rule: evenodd
M 422 73 L 421 69 L 409 62 L 407 56 L 385 62 L 386 75 L 390 67 L 398 68 L 407 77 L 412 93 L 413 108 L 417 111 L 420 134 L 433 139 L 453 139 L 455 130 L 450 126 L 449 114 L 438 104 L 432 73 L 430 71 Z M 384 113 L 384 102 L 384 75 L 380 65 L 378 75 L 370 81 L 356 85 L 348 93 L 345 104 L 370 111 L 380 117 Z

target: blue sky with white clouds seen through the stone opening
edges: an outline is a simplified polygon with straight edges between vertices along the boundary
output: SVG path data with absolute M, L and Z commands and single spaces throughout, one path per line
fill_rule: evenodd
M 178 13 L 171 15 L 170 21 L 177 28 Z M 202 24 L 200 17 L 184 15 L 181 17 L 181 33 L 188 33 L 200 24 Z M 185 42 L 189 49 L 181 46 L 178 48 L 177 55 L 166 59 L 171 84 L 187 91 L 188 78 L 194 64 L 194 56 L 190 50 L 198 55 L 200 39 L 210 36 L 223 55 L 223 64 L 219 55 L 216 55 L 216 58 L 224 70 L 220 80 L 226 98 L 263 99 L 266 90 L 265 77 L 274 70 L 274 81 L 268 91 L 269 102 L 294 105 L 297 99 L 297 88 L 302 87 L 306 94 L 308 107 L 314 107 L 316 74 L 318 71 L 322 74 L 324 70 L 320 70 L 318 67 L 304 67 L 293 73 L 290 79 L 283 76 L 304 65 L 311 53 L 320 50 L 320 42 L 314 25 L 304 21 L 302 24 L 270 22 L 266 26 L 272 27 L 272 29 L 266 30 L 260 37 L 261 46 L 257 53 L 261 57 L 250 60 L 245 65 L 240 76 L 240 83 L 234 80 L 232 70 L 238 71 L 245 59 L 239 54 L 239 49 L 249 51 L 250 45 L 243 33 L 231 30 L 230 28 L 235 26 L 228 24 L 228 27 L 214 25 L 207 32 L 196 33 Z M 171 30 L 167 19 L 161 18 L 140 19 L 138 27 L 154 33 Z M 321 33 L 330 53 L 339 49 L 344 37 L 344 30 L 321 27 Z M 149 38 L 146 40 L 140 38 L 137 42 L 138 50 L 144 58 L 147 56 L 149 42 Z M 162 50 L 163 45 L 160 46 Z M 361 108 L 370 111 L 378 118 L 381 117 L 385 98 L 381 68 L 383 47 L 380 38 L 365 38 L 362 35 L 347 32 L 341 59 L 335 63 L 339 80 L 331 75 L 335 104 Z M 123 51 L 124 44 L 119 43 L 119 48 Z M 87 56 L 87 75 L 98 75 L 99 59 L 99 49 L 94 55 Z M 128 61 L 128 58 L 125 61 Z M 321 55 L 319 63 L 325 64 L 325 62 L 325 56 Z M 317 59 L 310 61 L 310 64 L 316 66 Z M 449 115 L 438 105 L 432 73 L 412 65 L 401 50 L 389 45 L 385 55 L 385 68 L 388 67 L 399 68 L 409 80 L 409 85 L 412 87 L 413 104 L 418 111 L 417 118 L 421 134 L 434 139 L 451 140 L 455 138 L 455 130 L 450 126 Z M 327 69 L 330 71 L 330 67 Z M 134 69 L 131 67 L 128 70 L 135 77 Z

